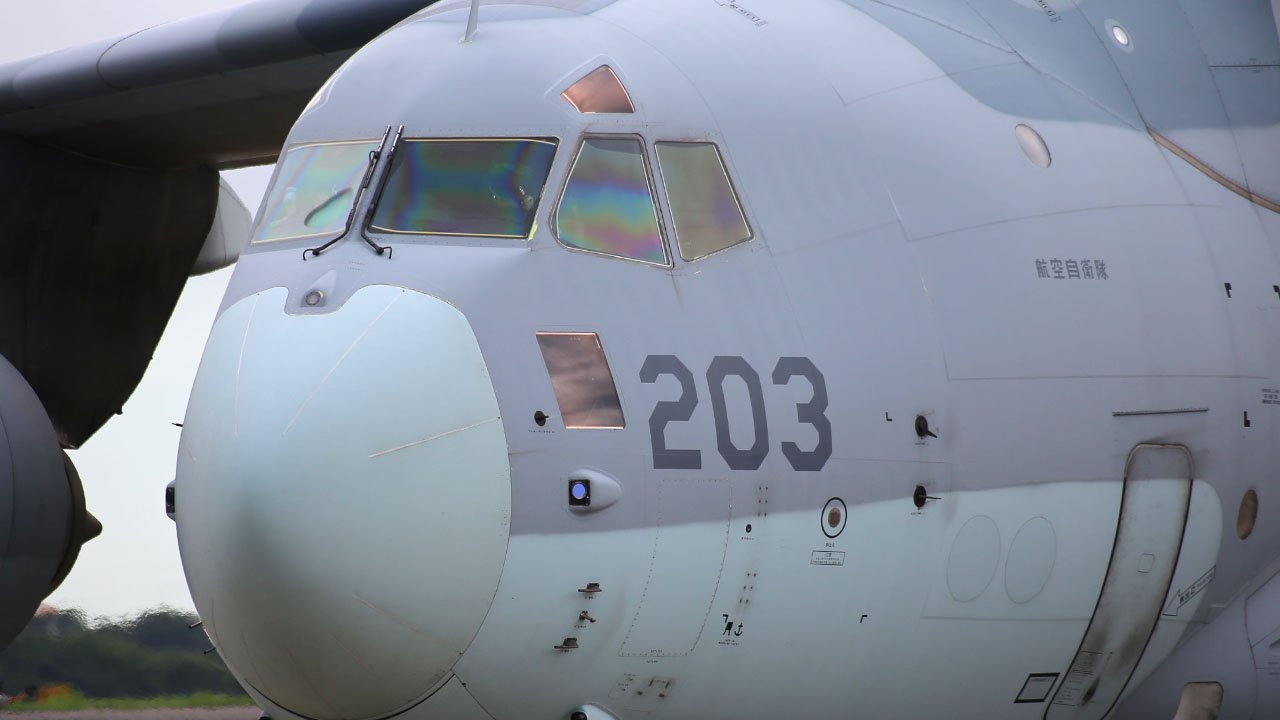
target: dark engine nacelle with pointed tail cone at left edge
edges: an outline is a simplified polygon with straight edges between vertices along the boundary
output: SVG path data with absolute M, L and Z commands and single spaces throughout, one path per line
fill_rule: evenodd
M 0 357 L 0 647 L 101 530 L 40 398 Z

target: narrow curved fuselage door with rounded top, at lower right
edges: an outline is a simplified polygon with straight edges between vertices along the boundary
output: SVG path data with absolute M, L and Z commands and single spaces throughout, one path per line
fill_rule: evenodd
M 1044 720 L 1101 720 L 1129 687 L 1174 580 L 1194 475 L 1181 445 L 1142 443 L 1129 452 L 1107 574 Z

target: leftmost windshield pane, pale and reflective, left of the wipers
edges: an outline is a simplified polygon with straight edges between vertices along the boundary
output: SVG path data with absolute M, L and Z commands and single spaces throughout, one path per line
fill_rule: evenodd
M 342 232 L 378 142 L 300 145 L 285 152 L 253 242 Z

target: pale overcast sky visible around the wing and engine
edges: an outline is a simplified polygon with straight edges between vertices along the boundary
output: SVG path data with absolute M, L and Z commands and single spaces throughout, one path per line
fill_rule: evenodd
M 238 5 L 241 0 L 45 0 L 4 3 L 0 63 L 116 36 L 168 20 Z M 250 210 L 257 210 L 270 168 L 228 173 Z M 128 615 L 168 605 L 192 609 L 178 559 L 164 488 L 173 479 L 178 428 L 214 313 L 230 269 L 192 278 L 156 348 L 142 384 L 72 460 L 84 480 L 102 536 L 50 598 L 92 616 Z

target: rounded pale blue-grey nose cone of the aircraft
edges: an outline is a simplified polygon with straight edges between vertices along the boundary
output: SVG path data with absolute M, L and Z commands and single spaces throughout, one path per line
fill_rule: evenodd
M 448 679 L 497 592 L 498 402 L 444 301 L 287 302 L 241 300 L 210 334 L 178 457 L 183 566 L 242 682 L 305 717 L 380 717 Z

